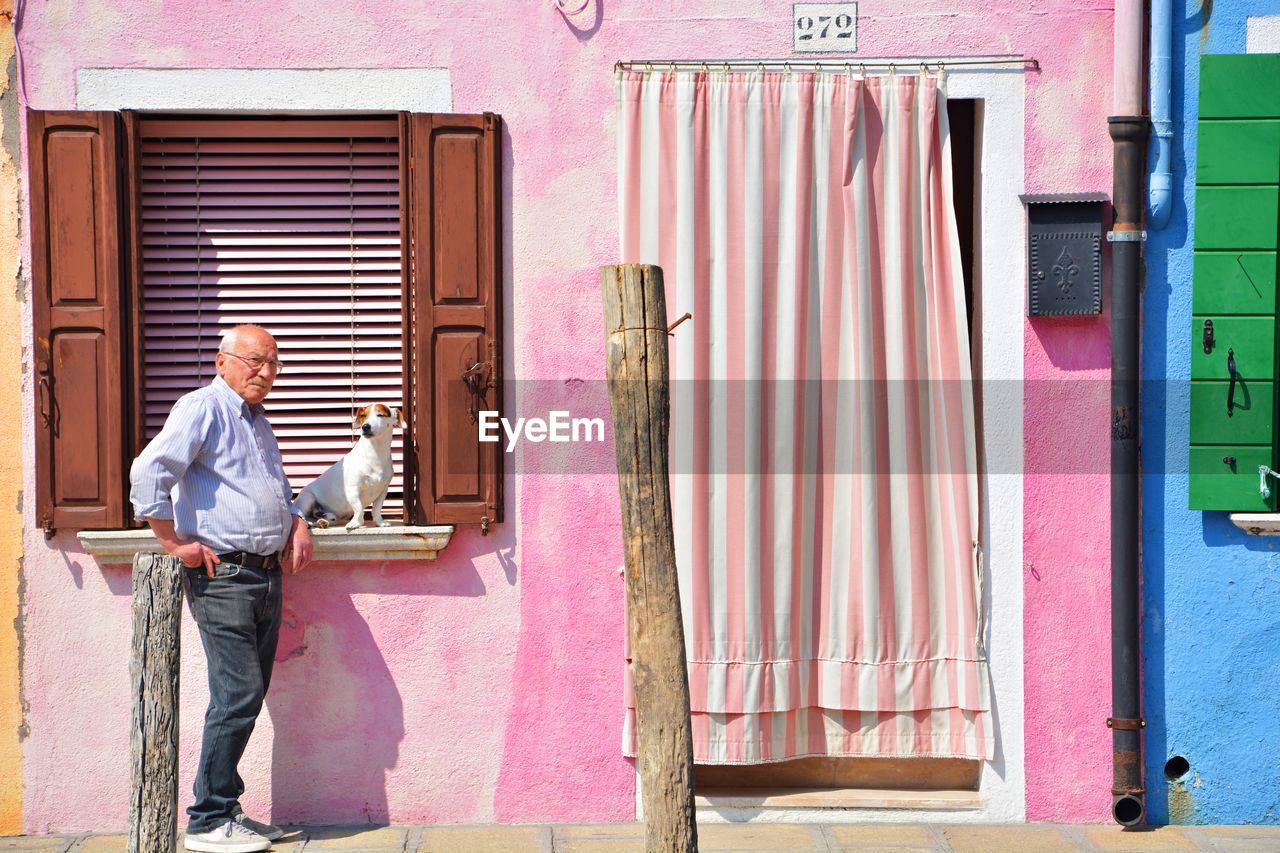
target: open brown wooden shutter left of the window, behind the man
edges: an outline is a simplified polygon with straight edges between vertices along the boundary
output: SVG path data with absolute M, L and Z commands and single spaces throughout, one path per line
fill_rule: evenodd
M 36 337 L 36 517 L 46 533 L 125 514 L 119 152 L 114 113 L 27 117 Z

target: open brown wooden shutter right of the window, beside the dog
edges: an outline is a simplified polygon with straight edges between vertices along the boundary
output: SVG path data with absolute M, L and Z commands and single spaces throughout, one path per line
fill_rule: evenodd
M 502 520 L 502 444 L 479 441 L 476 411 L 502 411 L 502 119 L 407 124 L 410 517 L 488 529 Z

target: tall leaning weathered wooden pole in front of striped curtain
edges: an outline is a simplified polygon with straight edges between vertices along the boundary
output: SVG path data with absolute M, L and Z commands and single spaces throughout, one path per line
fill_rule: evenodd
M 667 305 L 662 269 L 600 269 L 613 443 L 622 493 L 627 633 L 636 698 L 645 849 L 698 849 L 689 671 L 671 529 Z

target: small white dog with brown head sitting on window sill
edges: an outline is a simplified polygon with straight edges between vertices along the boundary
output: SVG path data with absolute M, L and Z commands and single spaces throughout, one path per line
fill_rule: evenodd
M 372 403 L 356 410 L 355 425 L 360 439 L 351 451 L 308 483 L 294 505 L 312 526 L 346 524 L 348 530 L 364 525 L 365 507 L 372 502 L 374 524 L 383 520 L 383 501 L 392 482 L 392 433 L 404 426 L 399 409 Z

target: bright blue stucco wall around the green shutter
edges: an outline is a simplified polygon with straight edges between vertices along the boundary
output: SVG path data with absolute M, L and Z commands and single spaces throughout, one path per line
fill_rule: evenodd
M 1280 14 L 1280 0 L 1190 1 L 1179 13 L 1172 104 L 1181 192 L 1169 225 L 1148 237 L 1143 307 L 1147 804 L 1153 824 L 1277 824 L 1280 543 L 1247 535 L 1225 512 L 1187 508 L 1187 379 L 1199 56 L 1243 54 L 1245 18 Z M 1165 777 L 1172 756 L 1190 762 L 1176 783 Z

